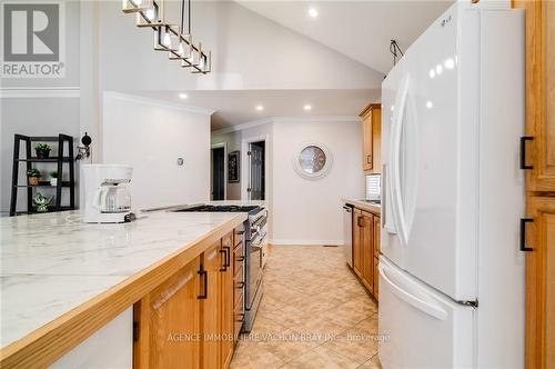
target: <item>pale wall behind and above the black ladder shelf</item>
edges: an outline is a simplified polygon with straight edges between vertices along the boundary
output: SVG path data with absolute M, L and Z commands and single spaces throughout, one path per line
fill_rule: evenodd
M 26 136 L 65 133 L 73 136 L 77 142 L 80 139 L 78 50 L 81 2 L 62 1 L 65 6 L 65 78 L 0 78 L 0 215 L 2 216 L 10 209 L 14 133 Z M 0 39 L 3 40 L 3 27 L 0 27 Z M 24 166 L 20 167 L 20 182 L 23 183 L 27 180 Z M 37 167 L 44 172 L 56 170 L 54 166 Z M 79 182 L 78 164 L 75 171 L 75 180 Z M 43 180 L 48 180 L 48 176 Z M 47 196 L 54 195 L 53 189 L 49 188 L 41 188 L 40 191 Z M 19 190 L 18 210 L 27 209 L 26 192 L 23 189 Z M 79 192 L 75 200 L 79 201 Z M 69 203 L 65 195 L 62 203 Z

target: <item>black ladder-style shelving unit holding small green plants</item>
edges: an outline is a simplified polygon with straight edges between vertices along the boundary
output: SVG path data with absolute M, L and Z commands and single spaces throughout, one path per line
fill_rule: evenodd
M 21 143 L 24 142 L 26 157 L 21 158 Z M 58 154 L 46 159 L 32 157 L 33 142 L 58 142 Z M 65 153 L 64 146 L 68 143 L 68 152 Z M 75 168 L 73 161 L 73 137 L 68 134 L 58 134 L 58 137 L 31 137 L 16 133 L 13 139 L 13 171 L 11 177 L 11 202 L 10 217 L 23 213 L 33 213 L 33 188 L 52 188 L 50 182 L 39 182 L 39 184 L 29 184 L 27 174 L 24 184 L 19 183 L 19 166 L 24 163 L 26 171 L 32 168 L 33 162 L 48 162 L 58 166 L 58 184 L 56 186 L 54 206 L 49 207 L 49 211 L 63 211 L 75 209 Z M 62 181 L 64 168 L 69 171 L 69 181 Z M 27 211 L 17 211 L 18 192 L 20 188 L 27 188 Z M 62 206 L 62 189 L 69 189 L 69 206 Z

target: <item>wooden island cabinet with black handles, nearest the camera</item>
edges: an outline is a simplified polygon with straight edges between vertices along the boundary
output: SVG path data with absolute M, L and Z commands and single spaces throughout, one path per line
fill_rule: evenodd
M 238 338 L 233 243 L 232 233 L 214 242 L 134 305 L 134 368 L 230 366 Z

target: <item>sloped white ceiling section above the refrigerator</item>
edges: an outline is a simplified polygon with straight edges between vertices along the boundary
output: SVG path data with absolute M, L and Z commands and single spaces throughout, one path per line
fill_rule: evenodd
M 387 73 L 393 66 L 390 40 L 406 48 L 453 1 L 251 1 L 241 6 L 304 34 L 370 68 Z M 311 18 L 309 9 L 317 10 Z

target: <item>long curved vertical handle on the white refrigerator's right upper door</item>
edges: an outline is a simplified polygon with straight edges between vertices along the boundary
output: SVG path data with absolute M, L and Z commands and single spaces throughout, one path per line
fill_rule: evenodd
M 398 101 L 395 101 L 396 104 L 396 116 L 394 118 L 394 124 L 392 127 L 393 134 L 391 146 L 391 154 L 392 158 L 392 168 L 391 168 L 391 179 L 393 187 L 393 191 L 391 193 L 392 203 L 394 208 L 395 223 L 398 231 L 401 245 L 406 246 L 407 236 L 406 236 L 406 221 L 405 215 L 403 211 L 403 197 L 401 189 L 401 137 L 403 133 L 403 117 L 405 114 L 406 108 L 406 99 L 408 96 L 408 84 L 410 84 L 411 76 L 407 73 L 404 76 L 403 81 L 401 82 Z

